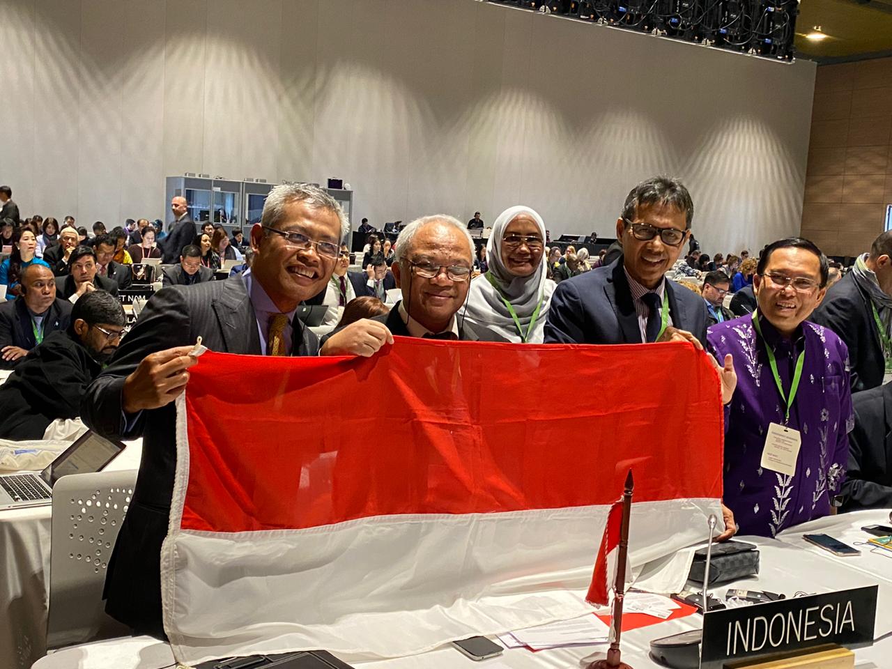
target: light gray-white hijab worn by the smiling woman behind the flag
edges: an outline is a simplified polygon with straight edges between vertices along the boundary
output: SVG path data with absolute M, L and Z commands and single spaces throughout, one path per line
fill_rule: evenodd
M 520 333 L 517 332 L 514 318 L 511 318 L 511 313 L 502 298 L 511 302 L 524 333 L 530 326 L 533 312 L 541 298 L 542 304 L 536 316 L 536 323 L 527 340 L 528 343 L 541 343 L 545 336 L 545 320 L 549 313 L 551 293 L 554 293 L 556 285 L 547 277 L 548 259 L 544 250 L 539 267 L 529 277 L 514 276 L 501 260 L 501 242 L 505 236 L 505 229 L 520 214 L 526 214 L 536 222 L 544 242 L 545 223 L 536 211 L 524 206 L 510 207 L 502 211 L 492 225 L 492 234 L 486 244 L 486 261 L 489 264 L 487 274 L 492 280 L 482 274 L 471 282 L 465 318 L 472 324 L 489 329 L 506 342 L 520 343 L 522 341 Z M 498 290 L 493 283 L 499 286 Z

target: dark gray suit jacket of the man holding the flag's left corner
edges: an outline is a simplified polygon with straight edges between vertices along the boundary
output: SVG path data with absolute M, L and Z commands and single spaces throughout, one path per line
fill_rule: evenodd
M 294 319 L 293 355 L 316 355 L 318 340 Z M 139 315 L 114 358 L 87 389 L 84 422 L 114 439 L 143 437 L 136 489 L 105 579 L 106 611 L 136 632 L 163 638 L 161 541 L 167 534 L 177 464 L 173 403 L 125 419 L 121 390 L 145 356 L 195 343 L 211 351 L 260 355 L 260 334 L 241 276 L 162 288 Z

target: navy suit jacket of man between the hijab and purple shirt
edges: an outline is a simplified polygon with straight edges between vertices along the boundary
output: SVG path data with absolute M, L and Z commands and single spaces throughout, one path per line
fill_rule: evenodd
M 665 294 L 673 326 L 706 345 L 703 298 L 668 280 Z M 641 343 L 622 258 L 558 284 L 545 323 L 545 343 Z

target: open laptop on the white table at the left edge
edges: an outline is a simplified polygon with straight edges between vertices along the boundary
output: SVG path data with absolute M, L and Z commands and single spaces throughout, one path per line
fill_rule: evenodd
M 124 444 L 87 430 L 42 472 L 0 475 L 0 509 L 52 504 L 53 486 L 62 476 L 102 471 L 122 450 Z

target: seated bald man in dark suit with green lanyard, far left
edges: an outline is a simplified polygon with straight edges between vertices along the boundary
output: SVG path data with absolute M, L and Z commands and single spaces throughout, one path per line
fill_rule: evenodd
M 21 295 L 0 304 L 0 369 L 13 368 L 56 330 L 68 327 L 71 302 L 56 297 L 55 277 L 44 265 L 21 273 Z

